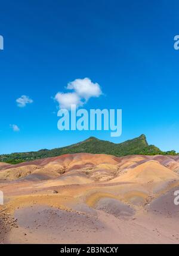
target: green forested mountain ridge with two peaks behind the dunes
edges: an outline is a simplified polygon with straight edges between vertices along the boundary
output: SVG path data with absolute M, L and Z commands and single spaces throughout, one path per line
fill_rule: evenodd
M 174 150 L 162 152 L 158 147 L 149 145 L 144 134 L 132 140 L 123 143 L 112 143 L 110 141 L 98 140 L 90 137 L 82 142 L 72 144 L 58 149 L 42 149 L 38 152 L 12 153 L 9 155 L 0 155 L 0 162 L 18 164 L 20 162 L 33 161 L 40 158 L 50 158 L 67 153 L 93 153 L 107 154 L 114 156 L 126 155 L 178 155 Z

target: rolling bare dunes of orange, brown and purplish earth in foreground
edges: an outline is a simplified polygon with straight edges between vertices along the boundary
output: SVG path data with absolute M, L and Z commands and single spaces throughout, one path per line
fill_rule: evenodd
M 0 164 L 0 243 L 179 243 L 178 156 Z

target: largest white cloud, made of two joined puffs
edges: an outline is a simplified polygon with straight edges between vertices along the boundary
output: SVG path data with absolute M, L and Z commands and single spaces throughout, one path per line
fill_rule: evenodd
M 73 90 L 73 92 L 58 92 L 55 95 L 60 109 L 70 109 L 72 104 L 78 108 L 87 103 L 91 97 L 100 97 L 103 94 L 100 85 L 94 84 L 90 78 L 75 79 L 67 84 L 66 89 Z

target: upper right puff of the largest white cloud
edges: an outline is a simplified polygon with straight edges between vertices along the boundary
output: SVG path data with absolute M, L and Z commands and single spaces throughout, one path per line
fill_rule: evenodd
M 75 92 L 82 98 L 85 98 L 85 100 L 91 97 L 99 97 L 102 94 L 100 85 L 91 82 L 90 78 L 75 79 L 75 81 L 67 85 L 67 89 L 75 90 Z

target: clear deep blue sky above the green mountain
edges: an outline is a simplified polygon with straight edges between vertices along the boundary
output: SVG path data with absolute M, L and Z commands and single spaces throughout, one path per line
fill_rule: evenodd
M 51 149 L 90 136 L 120 143 L 140 134 L 179 152 L 178 9 L 177 0 L 2 2 L 0 153 Z M 53 97 L 79 78 L 103 91 L 85 108 L 122 109 L 121 137 L 58 131 Z M 33 102 L 17 106 L 21 95 Z

